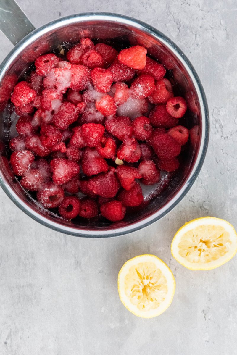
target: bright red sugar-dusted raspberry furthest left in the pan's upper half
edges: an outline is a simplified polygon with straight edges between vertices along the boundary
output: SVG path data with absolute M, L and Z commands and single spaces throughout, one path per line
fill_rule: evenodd
M 31 103 L 36 95 L 37 92 L 29 86 L 29 83 L 26 81 L 21 81 L 20 83 L 16 84 L 13 90 L 13 94 L 11 95 L 11 102 L 13 102 L 16 107 L 24 106 Z

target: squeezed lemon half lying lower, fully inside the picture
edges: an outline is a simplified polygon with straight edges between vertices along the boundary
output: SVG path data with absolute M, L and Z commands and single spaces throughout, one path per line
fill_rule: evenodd
M 118 273 L 118 294 L 123 305 L 142 318 L 159 316 L 171 304 L 175 278 L 170 268 L 155 255 L 128 260 Z

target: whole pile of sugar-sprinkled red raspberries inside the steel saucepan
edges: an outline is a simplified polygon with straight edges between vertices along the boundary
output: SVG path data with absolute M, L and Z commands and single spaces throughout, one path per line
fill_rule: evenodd
M 186 101 L 139 45 L 118 53 L 82 38 L 64 59 L 49 53 L 34 65 L 11 95 L 20 116 L 9 142 L 13 173 L 64 218 L 122 220 L 143 203 L 138 180 L 153 185 L 160 170 L 178 169 Z

